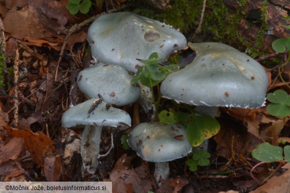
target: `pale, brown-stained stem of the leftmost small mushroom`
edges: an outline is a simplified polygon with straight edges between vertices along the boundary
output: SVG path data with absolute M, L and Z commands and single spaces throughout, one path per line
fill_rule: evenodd
M 83 169 L 94 174 L 98 168 L 98 155 L 100 152 L 102 127 L 87 125 L 85 126 L 81 136 L 81 157 L 83 161 Z

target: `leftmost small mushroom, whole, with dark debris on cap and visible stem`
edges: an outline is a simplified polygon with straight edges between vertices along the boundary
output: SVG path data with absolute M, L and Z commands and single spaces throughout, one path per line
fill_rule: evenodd
M 102 128 L 127 129 L 131 125 L 131 117 L 121 109 L 108 109 L 102 98 L 92 98 L 66 110 L 61 124 L 65 128 L 84 127 L 81 136 L 83 168 L 94 174 L 98 167 Z

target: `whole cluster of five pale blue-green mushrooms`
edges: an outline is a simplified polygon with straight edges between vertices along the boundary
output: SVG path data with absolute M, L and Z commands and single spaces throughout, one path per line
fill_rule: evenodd
M 79 89 L 89 100 L 64 112 L 66 128 L 83 126 L 83 168 L 95 173 L 103 127 L 119 130 L 131 126 L 129 114 L 117 107 L 142 98 L 141 85 L 131 83 L 130 73 L 144 65 L 152 52 L 160 58 L 186 47 L 185 37 L 172 26 L 130 12 L 105 14 L 88 30 L 92 56 L 98 61 L 82 70 Z M 259 108 L 264 105 L 268 78 L 253 58 L 221 43 L 188 46 L 196 51 L 193 62 L 170 74 L 161 83 L 163 97 L 197 106 L 201 113 L 217 115 L 219 106 Z M 168 161 L 187 155 L 192 146 L 186 128 L 179 124 L 141 123 L 128 135 L 128 144 L 144 160 L 155 162 L 158 183 L 168 178 Z M 113 145 L 113 144 L 112 144 Z

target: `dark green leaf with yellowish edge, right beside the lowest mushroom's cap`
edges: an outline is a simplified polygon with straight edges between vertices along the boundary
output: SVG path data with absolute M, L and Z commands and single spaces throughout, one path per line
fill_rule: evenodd
M 219 122 L 209 115 L 194 116 L 187 125 L 186 135 L 192 146 L 198 146 L 220 131 Z

